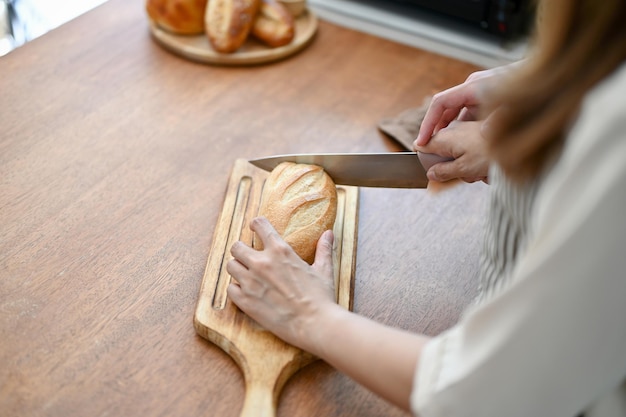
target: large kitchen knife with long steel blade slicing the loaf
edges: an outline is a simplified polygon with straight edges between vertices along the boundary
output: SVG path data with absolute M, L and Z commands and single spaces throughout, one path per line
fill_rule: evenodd
M 271 171 L 282 162 L 313 164 L 324 168 L 336 184 L 359 187 L 426 188 L 426 170 L 451 158 L 418 152 L 322 153 L 276 155 L 249 162 Z M 423 161 L 423 165 L 420 162 Z

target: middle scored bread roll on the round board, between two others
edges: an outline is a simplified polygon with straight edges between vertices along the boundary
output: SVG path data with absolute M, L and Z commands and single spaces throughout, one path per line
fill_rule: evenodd
M 204 27 L 213 49 L 232 53 L 250 34 L 261 0 L 209 0 Z

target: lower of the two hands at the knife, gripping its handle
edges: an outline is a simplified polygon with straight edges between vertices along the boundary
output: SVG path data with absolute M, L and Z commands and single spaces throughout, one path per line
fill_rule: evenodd
M 431 181 L 446 182 L 460 178 L 465 182 L 485 181 L 489 173 L 487 144 L 481 134 L 483 122 L 455 120 L 439 130 L 418 152 L 454 158 L 433 165 L 426 175 Z

